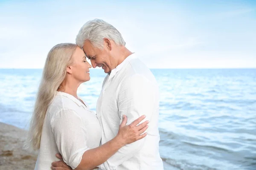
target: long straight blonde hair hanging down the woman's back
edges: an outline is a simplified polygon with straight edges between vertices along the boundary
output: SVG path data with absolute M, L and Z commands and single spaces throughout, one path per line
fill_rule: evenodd
M 26 149 L 39 150 L 44 118 L 56 91 L 66 77 L 67 66 L 72 63 L 72 55 L 78 47 L 72 43 L 61 43 L 52 47 L 47 55 L 43 76 L 38 88 L 35 108 L 32 114 Z

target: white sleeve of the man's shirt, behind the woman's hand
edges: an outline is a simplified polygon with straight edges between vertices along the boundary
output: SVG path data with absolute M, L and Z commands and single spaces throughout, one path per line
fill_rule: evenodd
M 158 95 L 158 89 L 156 88 L 158 88 L 156 85 L 153 85 L 152 82 L 141 75 L 134 75 L 122 83 L 118 94 L 118 109 L 120 118 L 122 118 L 122 115 L 127 116 L 127 125 L 142 115 L 146 115 L 143 122 L 151 120 L 156 105 L 155 95 Z M 122 119 L 120 124 L 121 122 Z M 140 151 L 146 138 L 147 136 L 123 146 L 111 158 L 99 165 L 99 168 L 102 170 L 116 170 L 117 166 Z

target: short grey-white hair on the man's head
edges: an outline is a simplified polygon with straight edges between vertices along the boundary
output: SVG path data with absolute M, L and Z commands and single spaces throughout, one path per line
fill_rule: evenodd
M 76 44 L 82 48 L 84 41 L 90 40 L 94 47 L 102 49 L 104 38 L 113 40 L 116 45 L 125 45 L 120 32 L 111 24 L 100 19 L 90 20 L 82 26 L 76 36 Z

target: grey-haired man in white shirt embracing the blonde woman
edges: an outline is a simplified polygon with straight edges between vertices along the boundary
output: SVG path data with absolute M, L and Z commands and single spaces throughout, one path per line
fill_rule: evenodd
M 125 47 L 119 31 L 103 20 L 85 23 L 76 37 L 76 44 L 84 50 L 93 68 L 102 67 L 107 73 L 96 106 L 102 128 L 101 144 L 116 136 L 124 114 L 127 124 L 143 114 L 150 121 L 144 139 L 125 145 L 98 167 L 102 170 L 163 170 L 159 155 L 159 92 L 151 71 Z M 70 169 L 63 161 L 52 165 L 54 170 Z

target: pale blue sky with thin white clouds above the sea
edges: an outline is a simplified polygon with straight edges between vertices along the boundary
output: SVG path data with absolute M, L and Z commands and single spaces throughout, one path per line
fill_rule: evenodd
M 95 18 L 149 68 L 256 68 L 256 0 L 0 0 L 0 68 L 43 68 Z

